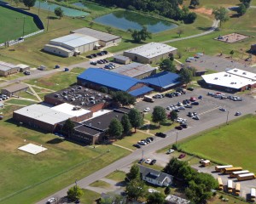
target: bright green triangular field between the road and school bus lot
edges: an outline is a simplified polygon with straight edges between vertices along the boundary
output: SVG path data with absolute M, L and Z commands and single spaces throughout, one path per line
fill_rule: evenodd
M 256 116 L 244 116 L 181 144 L 182 150 L 220 163 L 243 167 L 256 173 Z

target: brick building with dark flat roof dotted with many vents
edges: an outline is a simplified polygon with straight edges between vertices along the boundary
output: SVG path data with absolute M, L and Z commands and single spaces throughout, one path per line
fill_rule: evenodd
M 96 112 L 111 105 L 111 97 L 108 94 L 76 85 L 45 95 L 44 102 L 50 105 L 67 103 Z

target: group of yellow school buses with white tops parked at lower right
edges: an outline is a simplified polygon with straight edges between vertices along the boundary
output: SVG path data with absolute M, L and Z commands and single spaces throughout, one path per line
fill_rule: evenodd
M 256 178 L 254 173 L 249 173 L 248 170 L 242 170 L 242 167 L 233 167 L 232 165 L 216 166 L 215 171 L 224 174 L 230 174 L 230 178 L 237 178 L 237 180 L 239 181 Z M 222 178 L 218 177 L 217 180 L 218 190 L 223 190 L 224 185 L 222 182 Z M 228 180 L 227 183 L 227 190 L 229 193 L 233 192 L 233 181 L 230 179 Z M 240 183 L 236 183 L 234 193 L 235 195 L 240 195 Z M 251 188 L 250 200 L 253 202 L 256 201 L 256 190 L 254 188 Z

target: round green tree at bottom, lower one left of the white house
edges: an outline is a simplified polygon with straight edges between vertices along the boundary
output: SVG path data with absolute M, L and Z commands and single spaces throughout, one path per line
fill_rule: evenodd
M 139 197 L 143 197 L 146 193 L 144 182 L 140 178 L 131 180 L 126 185 L 125 193 L 129 199 L 137 201 Z

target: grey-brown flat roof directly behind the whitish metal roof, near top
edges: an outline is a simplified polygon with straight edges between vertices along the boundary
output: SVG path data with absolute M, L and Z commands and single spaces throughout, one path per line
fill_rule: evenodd
M 96 30 L 90 29 L 88 27 L 80 28 L 80 29 L 77 29 L 77 30 L 72 31 L 72 32 L 83 34 L 83 35 L 90 36 L 90 37 L 96 37 L 97 39 L 99 39 L 101 41 L 104 41 L 104 42 L 113 41 L 115 39 L 121 38 L 119 36 L 115 36 L 115 35 L 110 34 L 108 32 L 96 31 Z

